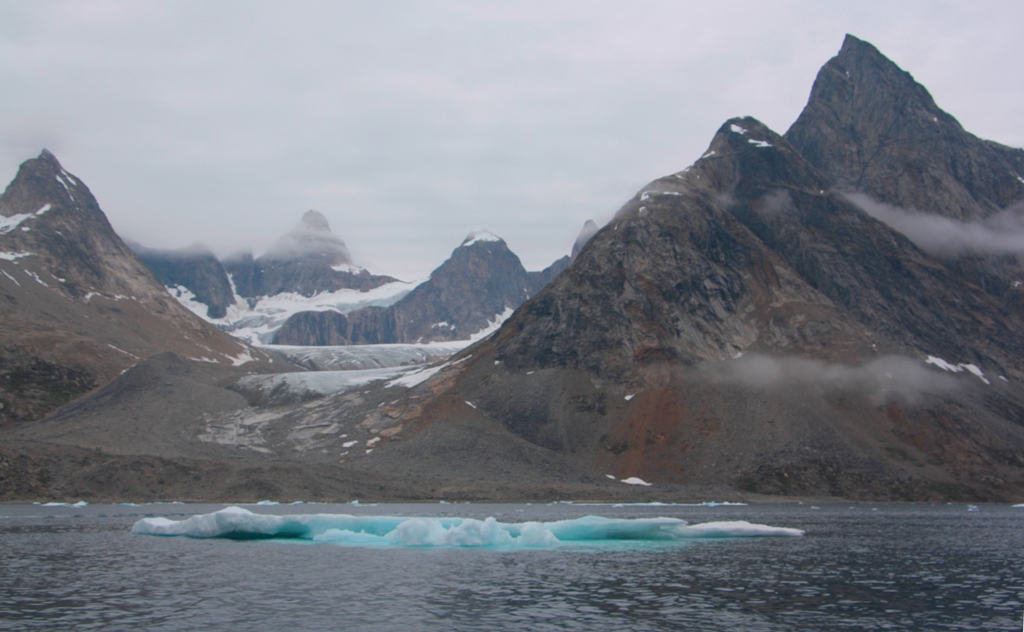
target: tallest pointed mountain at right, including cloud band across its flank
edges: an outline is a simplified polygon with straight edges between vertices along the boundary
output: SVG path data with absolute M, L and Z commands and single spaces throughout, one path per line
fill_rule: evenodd
M 866 212 L 1024 313 L 1024 150 L 966 131 L 853 36 L 785 137 Z

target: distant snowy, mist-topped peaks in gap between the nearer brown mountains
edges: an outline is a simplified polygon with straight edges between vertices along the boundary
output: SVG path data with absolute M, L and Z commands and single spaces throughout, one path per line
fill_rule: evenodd
M 588 222 L 573 251 L 596 231 Z M 501 238 L 468 237 L 421 282 L 371 275 L 316 211 L 265 254 L 218 260 L 204 245 L 133 245 L 173 296 L 226 332 L 254 343 L 334 345 L 469 340 L 500 324 L 571 258 L 527 272 Z

